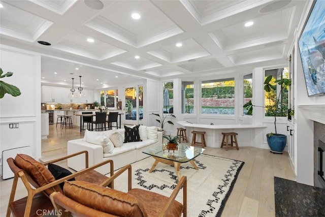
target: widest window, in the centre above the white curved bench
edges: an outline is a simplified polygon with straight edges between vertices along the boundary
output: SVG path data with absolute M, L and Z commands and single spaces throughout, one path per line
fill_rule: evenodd
M 235 79 L 202 81 L 203 114 L 235 114 Z

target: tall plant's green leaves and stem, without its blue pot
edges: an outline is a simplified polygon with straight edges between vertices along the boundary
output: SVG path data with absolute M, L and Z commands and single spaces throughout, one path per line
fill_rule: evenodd
M 275 85 L 271 83 L 273 76 L 269 75 L 265 81 L 264 81 L 264 90 L 267 92 L 269 105 L 265 106 L 267 109 L 267 113 L 269 116 L 274 117 L 274 129 L 275 133 L 276 131 L 276 117 L 280 114 L 283 114 L 286 111 L 286 103 L 285 99 L 283 97 L 283 91 L 288 88 L 288 86 L 291 86 L 291 79 L 287 78 L 281 78 L 279 80 L 275 81 Z M 278 95 L 274 94 L 274 91 L 276 91 L 277 84 L 280 86 L 280 91 L 278 92 Z M 243 107 L 247 109 L 247 114 L 251 115 L 253 113 L 253 107 L 255 105 L 252 104 L 252 101 L 248 101 Z M 264 106 L 256 106 L 256 107 L 264 107 Z M 271 133 L 272 134 L 272 133 Z

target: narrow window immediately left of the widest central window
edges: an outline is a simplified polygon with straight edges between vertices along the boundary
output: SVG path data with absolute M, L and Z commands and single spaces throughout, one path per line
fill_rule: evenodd
M 182 81 L 182 113 L 194 113 L 194 82 Z

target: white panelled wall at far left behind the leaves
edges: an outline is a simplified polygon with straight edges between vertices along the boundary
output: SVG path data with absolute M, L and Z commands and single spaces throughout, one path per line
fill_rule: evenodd
M 29 145 L 32 157 L 40 158 L 41 56 L 0 45 L 0 66 L 4 73 L 13 72 L 13 76 L 1 80 L 21 91 L 18 97 L 6 94 L 0 99 L 0 152 Z M 19 128 L 9 129 L 9 123 L 19 123 Z M 6 160 L 2 162 L 7 163 Z

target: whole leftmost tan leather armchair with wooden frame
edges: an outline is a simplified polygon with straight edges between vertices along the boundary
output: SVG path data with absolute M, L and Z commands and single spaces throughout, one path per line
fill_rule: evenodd
M 49 163 L 53 164 L 77 156 L 79 154 L 85 154 L 85 169 L 66 177 L 56 180 L 46 167 Z M 55 159 L 44 164 L 36 161 L 30 156 L 27 156 L 26 154 L 17 154 L 15 159 L 8 158 L 7 162 L 10 169 L 15 175 L 7 208 L 7 217 L 10 217 L 11 213 L 13 216 L 18 217 L 43 216 L 48 213 L 53 214 L 52 211 L 54 211 L 54 207 L 51 200 L 49 199 L 49 195 L 53 192 L 62 192 L 59 183 L 62 183 L 64 180 L 69 180 L 71 178 L 93 182 L 103 186 L 109 185 L 111 188 L 114 187 L 113 182 L 111 183 L 107 181 L 107 176 L 94 170 L 95 168 L 109 163 L 109 172 L 111 175 L 113 175 L 113 161 L 108 160 L 100 164 L 88 167 L 87 151 L 80 151 L 74 154 L 70 154 L 69 156 Z M 22 180 L 27 190 L 27 196 L 21 199 L 16 199 L 15 194 L 19 178 Z

